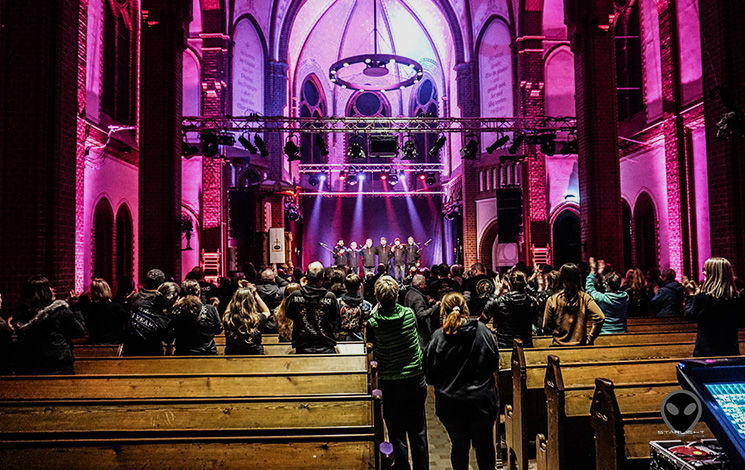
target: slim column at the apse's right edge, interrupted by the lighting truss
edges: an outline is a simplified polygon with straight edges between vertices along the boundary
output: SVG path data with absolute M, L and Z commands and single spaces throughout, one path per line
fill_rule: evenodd
M 475 63 L 469 62 L 455 66 L 458 82 L 458 106 L 463 117 L 479 115 L 479 85 Z M 478 171 L 473 161 L 462 161 L 461 181 L 463 181 L 463 264 L 471 266 L 478 261 L 478 242 L 476 240 L 476 194 L 478 192 Z

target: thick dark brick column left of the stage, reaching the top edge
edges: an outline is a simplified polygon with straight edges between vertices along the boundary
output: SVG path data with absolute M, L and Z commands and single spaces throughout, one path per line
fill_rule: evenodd
M 191 2 L 142 2 L 140 274 L 181 274 L 181 87 Z

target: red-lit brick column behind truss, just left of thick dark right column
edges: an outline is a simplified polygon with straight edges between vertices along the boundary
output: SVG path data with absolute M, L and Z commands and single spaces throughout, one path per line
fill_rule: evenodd
M 543 11 L 526 10 L 521 18 L 521 36 L 517 38 L 517 77 L 520 83 L 520 112 L 524 117 L 543 116 Z M 530 247 L 548 246 L 546 203 L 546 156 L 535 145 L 528 146 L 527 180 L 523 184 L 523 220 L 525 255 L 530 262 Z

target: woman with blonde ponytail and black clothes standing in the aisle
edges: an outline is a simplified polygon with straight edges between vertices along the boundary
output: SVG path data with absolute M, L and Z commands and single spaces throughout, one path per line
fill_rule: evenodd
M 445 321 L 427 346 L 424 372 L 435 387 L 435 410 L 450 436 L 450 463 L 454 470 L 468 469 L 473 445 L 479 469 L 491 470 L 496 462 L 497 343 L 485 324 L 468 318 L 461 294 L 445 294 L 440 310 Z

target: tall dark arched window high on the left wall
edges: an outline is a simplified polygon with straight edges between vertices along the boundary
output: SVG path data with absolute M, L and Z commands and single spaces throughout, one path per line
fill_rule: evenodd
M 133 22 L 128 0 L 104 0 L 101 108 L 112 119 L 132 122 Z

